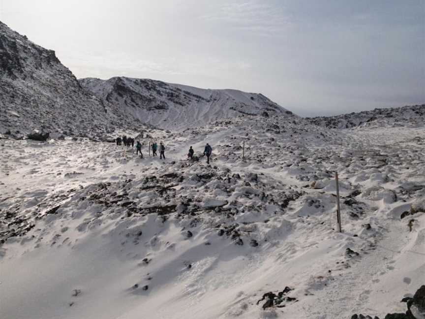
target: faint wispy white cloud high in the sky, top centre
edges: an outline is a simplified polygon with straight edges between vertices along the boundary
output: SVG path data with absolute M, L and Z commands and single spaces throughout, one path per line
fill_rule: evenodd
M 200 18 L 212 22 L 224 22 L 234 29 L 273 35 L 290 25 L 289 15 L 282 6 L 273 6 L 257 0 L 215 5 L 214 13 Z

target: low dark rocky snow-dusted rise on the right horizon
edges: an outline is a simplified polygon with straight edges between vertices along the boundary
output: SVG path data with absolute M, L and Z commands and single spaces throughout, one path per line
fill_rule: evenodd
M 425 123 L 425 104 L 371 111 L 307 118 L 310 123 L 325 128 L 363 127 L 421 127 Z

